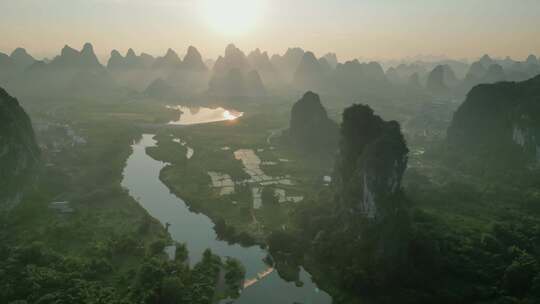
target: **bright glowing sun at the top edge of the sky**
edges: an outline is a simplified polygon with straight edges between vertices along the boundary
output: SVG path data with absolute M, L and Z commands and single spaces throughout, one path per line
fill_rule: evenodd
M 204 0 L 201 10 L 206 23 L 225 36 L 252 31 L 260 22 L 266 0 Z

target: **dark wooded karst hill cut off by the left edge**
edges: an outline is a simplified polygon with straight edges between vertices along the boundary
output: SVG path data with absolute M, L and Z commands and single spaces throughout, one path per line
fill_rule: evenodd
M 28 115 L 0 88 L 0 208 L 9 208 L 37 163 L 39 149 Z

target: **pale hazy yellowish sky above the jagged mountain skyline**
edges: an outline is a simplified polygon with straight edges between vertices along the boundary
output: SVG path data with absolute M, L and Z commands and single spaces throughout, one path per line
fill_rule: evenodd
M 0 0 L 0 51 L 23 46 L 53 56 L 89 41 L 101 58 L 129 47 L 183 54 L 189 45 L 208 58 L 234 42 L 245 51 L 300 46 L 340 59 L 540 55 L 540 0 L 250 0 L 261 4 L 253 12 L 222 4 L 212 11 L 205 1 L 226 0 Z M 209 20 L 217 13 L 256 17 L 230 35 Z

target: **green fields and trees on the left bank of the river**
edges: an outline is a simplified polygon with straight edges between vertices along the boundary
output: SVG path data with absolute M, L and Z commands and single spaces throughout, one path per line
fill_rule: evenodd
M 167 231 L 120 185 L 141 125 L 167 121 L 169 111 L 30 109 L 37 111 L 41 166 L 23 200 L 0 217 L 2 303 L 215 303 L 238 296 L 241 265 L 208 251 L 190 267 L 182 246 L 186 252 L 170 261 Z

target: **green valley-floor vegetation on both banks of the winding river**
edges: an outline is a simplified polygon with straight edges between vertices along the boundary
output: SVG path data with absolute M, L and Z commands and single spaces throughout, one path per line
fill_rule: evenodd
M 410 150 L 403 179 L 409 267 L 392 263 L 382 269 L 368 267 L 364 253 L 373 248 L 353 246 L 347 240 L 354 233 L 316 237 L 319 231 L 336 227 L 336 189 L 327 178 L 334 173 L 334 155 L 310 155 L 280 140 L 288 127 L 290 107 L 250 104 L 238 108 L 246 114 L 237 120 L 173 127 L 163 123 L 177 113 L 161 105 L 83 103 L 64 105 L 51 113 L 37 106 L 34 117 L 46 122 L 52 116 L 56 124 L 69 126 L 86 143 L 75 144 L 69 136 L 60 141 L 56 132 L 37 132 L 43 141 L 40 145 L 46 147 L 41 178 L 24 202 L 2 218 L 6 228 L 1 267 L 10 274 L 4 277 L 11 278 L 1 281 L 4 296 L 22 299 L 22 291 L 10 286 L 39 282 L 36 269 L 52 278 L 73 279 L 70 282 L 78 285 L 38 284 L 41 287 L 24 299 L 55 299 L 73 291 L 70 297 L 74 299 L 86 294 L 112 303 L 117 299 L 153 301 L 158 295 L 162 299 L 201 297 L 211 303 L 238 295 L 242 268 L 235 262 L 218 263 L 210 254 L 205 266 L 194 268 L 167 261 L 162 250 L 170 243 L 166 231 L 120 187 L 130 145 L 141 134 L 150 133 L 156 134 L 157 145 L 147 153 L 167 163 L 160 179 L 193 211 L 209 216 L 220 238 L 267 246 L 268 261 L 283 278 L 301 285 L 298 272 L 304 267 L 336 303 L 359 299 L 391 303 L 397 298 L 404 303 L 434 299 L 534 303 L 540 280 L 536 171 L 488 172 L 480 165 L 468 165 L 479 163 L 473 156 L 446 148 L 441 134 L 447 123 L 430 123 L 433 117 L 448 119 L 451 107 L 403 117 Z M 338 109 L 328 112 L 339 121 Z M 383 118 L 396 116 L 382 113 Z M 430 132 L 424 132 L 426 128 Z M 47 142 L 53 139 L 56 144 Z M 190 158 L 188 148 L 194 151 Z M 260 159 L 258 168 L 272 183 L 251 180 L 253 172 L 235 157 L 238 150 L 251 150 Z M 230 177 L 233 193 L 223 193 L 223 184 L 213 185 L 209 172 Z M 281 190 L 285 201 L 280 201 Z M 287 201 L 291 197 L 302 200 Z M 68 201 L 74 212 L 50 209 L 53 201 Z M 236 266 L 227 276 L 223 269 L 231 265 Z M 75 272 L 78 276 L 72 276 Z M 155 275 L 155 280 L 140 281 L 141 273 Z M 189 289 L 195 283 L 204 286 L 196 289 L 196 296 L 178 293 L 185 292 L 178 286 Z

